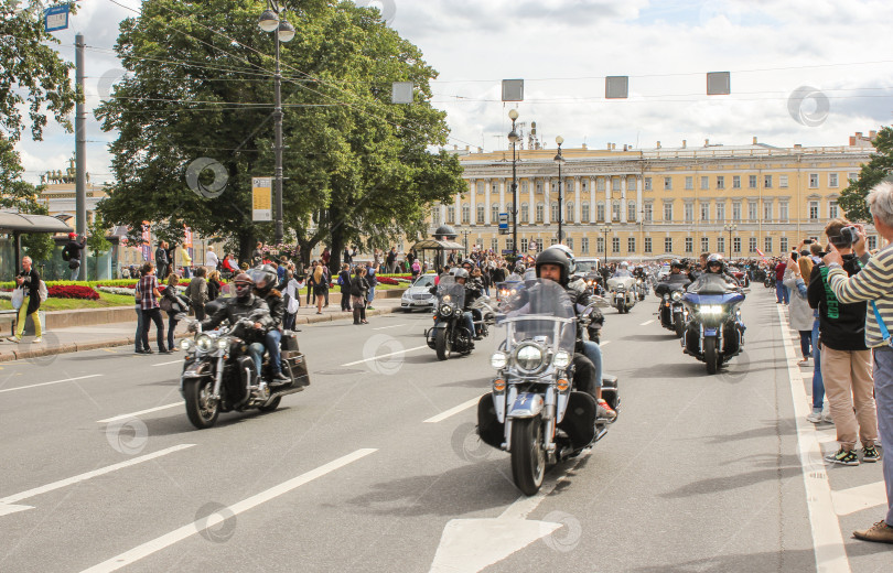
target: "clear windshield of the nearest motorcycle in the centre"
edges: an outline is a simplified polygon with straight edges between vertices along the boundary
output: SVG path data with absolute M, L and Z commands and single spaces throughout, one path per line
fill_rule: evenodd
M 577 322 L 568 293 L 555 281 L 532 279 L 523 283 L 501 283 L 506 292 L 496 324 L 506 327 L 506 350 L 535 342 L 552 352 L 573 354 Z

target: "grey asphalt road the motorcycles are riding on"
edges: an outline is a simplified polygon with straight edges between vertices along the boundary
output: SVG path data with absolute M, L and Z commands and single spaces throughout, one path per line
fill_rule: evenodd
M 716 376 L 655 306 L 606 312 L 620 420 L 534 498 L 474 434 L 498 334 L 439 363 L 427 314 L 304 327 L 312 386 L 205 431 L 182 356 L 0 365 L 0 571 L 890 571 L 850 539 L 882 516 L 881 467 L 817 468 L 833 433 L 798 428 L 808 369 L 774 295 L 749 295 Z

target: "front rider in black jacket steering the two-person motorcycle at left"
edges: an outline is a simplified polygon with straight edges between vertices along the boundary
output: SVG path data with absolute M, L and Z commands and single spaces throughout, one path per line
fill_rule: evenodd
M 201 322 L 203 331 L 211 331 L 224 321 L 236 324 L 241 318 L 254 321 L 251 328 L 238 329 L 239 338 L 248 344 L 248 355 L 255 361 L 258 379 L 263 364 L 263 338 L 268 329 L 272 328 L 273 321 L 270 309 L 263 299 L 254 294 L 255 281 L 247 273 L 241 273 L 233 280 L 236 295 L 226 299 L 213 316 Z M 197 329 L 200 323 L 192 323 L 190 329 Z

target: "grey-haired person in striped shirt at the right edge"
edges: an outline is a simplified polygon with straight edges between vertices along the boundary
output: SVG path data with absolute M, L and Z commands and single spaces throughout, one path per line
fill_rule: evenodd
M 869 193 L 868 204 L 874 228 L 886 239 L 886 247 L 870 256 L 865 251 L 864 229 L 859 228 L 859 240 L 854 247 L 860 256 L 859 262 L 864 264 L 862 272 L 847 277 L 846 258 L 833 242 L 833 249 L 825 257 L 825 264 L 829 269 L 828 283 L 835 296 L 843 303 L 868 301 L 870 311 L 865 313 L 864 339 L 874 354 L 878 425 L 881 442 L 889 447 L 893 444 L 893 340 L 890 338 L 890 328 L 893 326 L 893 184 L 884 182 L 876 185 Z M 827 369 L 825 374 L 827 381 L 830 375 Z M 883 465 L 886 516 L 871 528 L 853 531 L 853 537 L 893 543 L 893 460 L 886 453 Z

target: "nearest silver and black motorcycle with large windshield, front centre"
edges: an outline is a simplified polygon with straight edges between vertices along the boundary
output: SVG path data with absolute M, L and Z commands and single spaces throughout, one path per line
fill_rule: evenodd
M 539 490 L 547 465 L 579 455 L 613 423 L 596 418 L 595 399 L 578 390 L 591 371 L 578 366 L 585 358 L 574 356 L 577 329 L 587 327 L 594 309 L 578 321 L 564 289 L 540 279 L 518 286 L 501 306 L 505 340 L 491 357 L 497 375 L 492 393 L 477 403 L 477 432 L 512 455 L 515 485 L 528 496 Z M 620 408 L 615 377 L 603 377 L 602 397 Z

